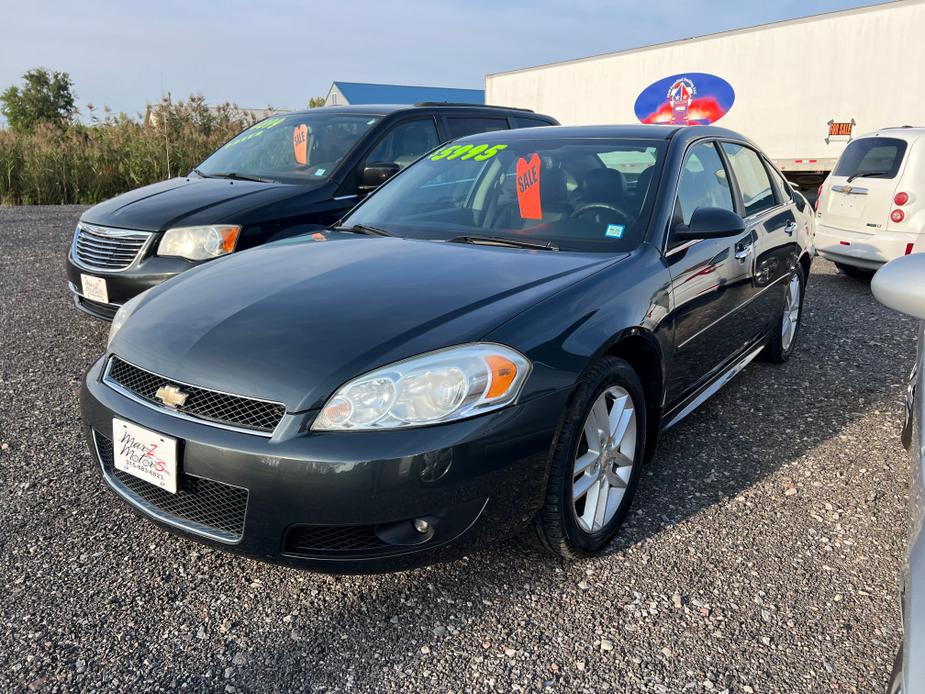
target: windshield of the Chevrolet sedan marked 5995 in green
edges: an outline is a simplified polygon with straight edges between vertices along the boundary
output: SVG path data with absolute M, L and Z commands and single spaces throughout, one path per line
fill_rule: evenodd
M 645 238 L 664 151 L 659 140 L 473 136 L 408 167 L 343 224 L 447 241 L 632 250 Z

